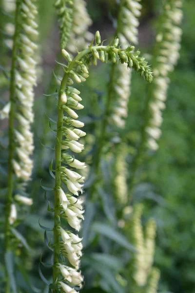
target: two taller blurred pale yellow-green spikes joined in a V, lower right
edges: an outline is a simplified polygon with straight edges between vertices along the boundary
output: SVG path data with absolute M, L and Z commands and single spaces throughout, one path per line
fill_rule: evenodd
M 152 270 L 155 253 L 156 222 L 150 219 L 146 224 L 145 237 L 141 224 L 143 206 L 134 206 L 131 217 L 131 236 L 137 253 L 134 257 L 133 277 L 138 286 L 147 284 Z

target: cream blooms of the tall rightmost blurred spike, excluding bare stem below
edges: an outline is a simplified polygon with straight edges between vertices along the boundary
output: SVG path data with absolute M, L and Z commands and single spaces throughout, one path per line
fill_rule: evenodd
M 149 103 L 150 119 L 146 132 L 148 146 L 156 150 L 156 141 L 161 135 L 162 110 L 166 107 L 167 89 L 169 86 L 169 72 L 179 58 L 182 30 L 178 25 L 182 20 L 182 0 L 168 0 L 164 5 L 161 29 L 156 36 L 156 59 L 154 64 L 154 84 Z

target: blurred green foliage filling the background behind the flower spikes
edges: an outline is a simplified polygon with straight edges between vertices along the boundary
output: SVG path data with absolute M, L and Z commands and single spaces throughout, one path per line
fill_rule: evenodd
M 139 28 L 138 48 L 142 54 L 151 54 L 153 50 L 156 19 L 160 12 L 160 1 L 142 1 L 143 10 Z M 54 145 L 54 136 L 45 112 L 55 119 L 53 97 L 45 97 L 55 90 L 52 70 L 58 73 L 55 60 L 59 60 L 58 25 L 52 0 L 41 0 L 39 4 L 39 25 L 41 43 L 41 64 L 39 85 L 36 88 L 35 100 L 35 168 L 28 192 L 34 198 L 34 205 L 25 221 L 18 230 L 24 235 L 30 251 L 20 247 L 17 280 L 20 292 L 33 292 L 29 287 L 26 272 L 30 281 L 43 288 L 38 266 L 39 256 L 43 253 L 45 262 L 49 262 L 50 253 L 44 246 L 43 230 L 38 220 L 47 227 L 53 227 L 43 185 L 52 187 L 53 179 L 48 172 L 49 162 L 54 153 L 41 146 Z M 102 39 L 111 40 L 114 35 L 115 17 L 117 14 L 115 0 L 89 0 L 88 11 L 94 24 L 92 32 L 97 29 Z M 182 23 L 183 37 L 180 59 L 175 71 L 171 74 L 168 90 L 167 107 L 163 113 L 162 136 L 159 149 L 155 154 L 146 153 L 137 174 L 138 184 L 132 191 L 134 202 L 144 205 L 143 224 L 153 217 L 157 223 L 155 267 L 161 272 L 160 293 L 195 293 L 195 5 L 194 0 L 184 1 L 184 20 Z M 1 54 L 5 48 L 1 46 Z M 98 64 L 91 68 L 91 74 L 84 86 L 79 86 L 83 104 L 81 121 L 85 122 L 87 132 L 85 159 L 91 165 L 98 142 L 99 124 L 104 113 L 104 102 L 109 82 L 109 66 Z M 60 72 L 59 72 L 60 74 Z M 6 87 L 6 85 L 5 85 Z M 4 88 L 3 88 L 4 89 Z M 132 94 L 129 102 L 129 116 L 126 128 L 117 134 L 118 129 L 112 128 L 108 133 L 108 144 L 104 146 L 101 160 L 103 182 L 91 196 L 93 172 L 85 184 L 85 221 L 82 236 L 84 251 L 81 260 L 82 272 L 85 275 L 85 286 L 82 293 L 135 293 L 127 286 L 128 271 L 125 269 L 134 253 L 132 245 L 118 227 L 118 210 L 116 199 L 111 192 L 112 152 L 116 150 L 116 136 L 126 137 L 128 142 L 129 174 L 131 161 L 135 153 L 137 137 L 142 124 L 144 99 L 148 85 L 133 74 Z M 1 90 L 2 92 L 2 90 Z M 4 94 L 6 98 L 6 93 Z M 53 127 L 51 125 L 51 127 Z M 3 124 L 2 128 L 6 128 Z M 1 128 L 1 130 L 2 130 Z M 4 151 L 2 149 L 2 155 Z M 3 177 L 0 178 L 4 186 Z M 49 199 L 52 194 L 48 192 Z M 2 225 L 2 218 L 1 218 Z M 126 233 L 126 236 L 128 232 Z M 48 232 L 48 238 L 51 236 Z M 42 269 L 47 279 L 51 278 L 50 269 Z M 0 273 L 3 275 L 2 268 Z M 129 285 L 129 284 L 128 284 Z M 130 284 L 131 285 L 131 284 Z

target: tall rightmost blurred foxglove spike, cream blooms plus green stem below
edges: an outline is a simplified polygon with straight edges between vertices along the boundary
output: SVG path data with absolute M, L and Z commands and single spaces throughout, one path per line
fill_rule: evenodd
M 145 147 L 153 151 L 158 149 L 157 140 L 161 136 L 162 110 L 165 109 L 167 90 L 169 85 L 169 72 L 179 58 L 179 48 L 182 30 L 178 27 L 182 20 L 182 0 L 166 0 L 163 14 L 159 23 L 159 31 L 156 35 L 154 50 L 154 83 L 149 88 L 145 105 L 145 119 L 141 129 L 140 142 L 137 153 L 132 162 L 132 175 L 129 181 L 129 189 L 133 188 L 137 168 L 142 159 Z

